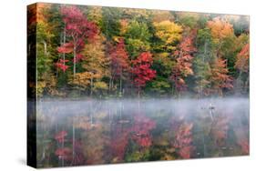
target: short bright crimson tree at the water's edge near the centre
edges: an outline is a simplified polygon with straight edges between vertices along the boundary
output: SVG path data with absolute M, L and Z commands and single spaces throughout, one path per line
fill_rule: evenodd
M 153 58 L 149 52 L 143 52 L 138 55 L 137 59 L 132 60 L 133 84 L 138 87 L 138 96 L 141 87 L 156 76 L 156 71 L 150 68 L 152 63 Z

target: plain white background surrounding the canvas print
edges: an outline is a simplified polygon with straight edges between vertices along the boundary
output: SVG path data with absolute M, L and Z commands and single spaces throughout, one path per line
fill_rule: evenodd
M 26 166 L 26 5 L 32 0 L 2 0 L 0 5 L 0 170 L 34 170 Z M 110 5 L 179 11 L 251 15 L 251 156 L 54 170 L 255 170 L 256 103 L 254 0 L 48 0 L 51 3 Z M 254 169 L 253 169 L 254 167 Z

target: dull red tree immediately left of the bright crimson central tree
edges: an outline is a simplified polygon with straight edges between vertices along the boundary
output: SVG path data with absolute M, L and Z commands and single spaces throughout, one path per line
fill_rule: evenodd
M 119 78 L 120 92 L 122 90 L 122 79 L 124 73 L 129 70 L 128 52 L 125 48 L 124 39 L 119 39 L 118 45 L 112 47 L 109 53 L 111 61 L 111 76 L 112 79 Z M 111 83 L 112 80 L 110 80 Z

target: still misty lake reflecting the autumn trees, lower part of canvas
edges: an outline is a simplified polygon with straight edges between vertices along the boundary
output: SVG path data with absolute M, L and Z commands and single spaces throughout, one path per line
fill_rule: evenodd
M 37 166 L 249 155 L 249 99 L 40 100 Z

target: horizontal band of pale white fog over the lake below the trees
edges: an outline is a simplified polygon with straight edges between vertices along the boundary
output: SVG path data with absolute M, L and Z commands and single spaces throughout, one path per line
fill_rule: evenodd
M 199 112 L 209 113 L 210 117 L 225 115 L 249 116 L 248 98 L 204 98 L 204 99 L 110 99 L 110 100 L 57 100 L 41 99 L 37 103 L 37 112 L 44 115 L 79 116 L 97 115 L 135 115 L 143 113 L 153 116 L 159 112 L 182 116 L 194 116 Z

